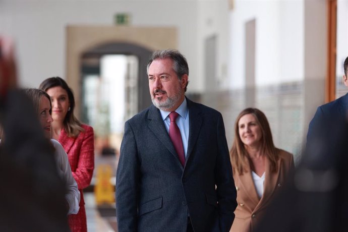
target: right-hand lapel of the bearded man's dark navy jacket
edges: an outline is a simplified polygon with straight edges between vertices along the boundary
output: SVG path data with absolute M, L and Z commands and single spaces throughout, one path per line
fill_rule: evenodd
M 192 150 L 197 142 L 198 135 L 201 130 L 202 126 L 202 112 L 200 109 L 198 109 L 195 105 L 194 102 L 190 101 L 188 98 L 187 100 L 187 107 L 189 109 L 189 124 L 190 124 L 190 129 L 189 129 L 189 141 L 188 141 L 188 148 L 187 148 L 187 156 L 186 156 L 186 161 L 189 159 Z

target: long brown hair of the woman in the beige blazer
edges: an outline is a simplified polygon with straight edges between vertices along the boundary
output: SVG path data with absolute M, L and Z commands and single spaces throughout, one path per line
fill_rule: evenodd
M 237 169 L 238 172 L 242 175 L 247 167 L 247 158 L 249 156 L 248 151 L 245 149 L 244 143 L 239 136 L 239 127 L 238 123 L 240 119 L 246 114 L 252 114 L 255 117 L 256 123 L 259 125 L 262 137 L 262 154 L 266 155 L 270 162 L 270 169 L 272 172 L 277 170 L 277 160 L 278 153 L 273 143 L 271 128 L 269 127 L 266 115 L 257 108 L 246 108 L 244 109 L 237 117 L 235 122 L 235 139 L 231 150 L 229 151 L 231 164 L 234 169 Z

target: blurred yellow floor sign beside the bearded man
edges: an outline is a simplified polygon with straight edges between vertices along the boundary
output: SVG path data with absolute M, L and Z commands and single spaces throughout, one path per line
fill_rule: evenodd
M 95 201 L 97 204 L 115 202 L 114 186 L 110 183 L 112 169 L 110 165 L 100 164 L 97 168 L 97 180 L 94 187 Z

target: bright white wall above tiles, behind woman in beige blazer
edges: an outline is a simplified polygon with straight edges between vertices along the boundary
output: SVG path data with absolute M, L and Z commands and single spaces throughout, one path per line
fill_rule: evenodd
M 230 13 L 229 86 L 245 86 L 245 24 L 256 19 L 255 83 L 304 78 L 303 0 L 236 0 Z

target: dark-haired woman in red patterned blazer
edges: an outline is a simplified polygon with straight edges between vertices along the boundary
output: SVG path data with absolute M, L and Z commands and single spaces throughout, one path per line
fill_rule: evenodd
M 80 210 L 69 215 L 72 232 L 87 231 L 85 201 L 82 190 L 91 183 L 94 169 L 93 128 L 74 116 L 75 99 L 68 84 L 60 77 L 51 77 L 40 84 L 52 100 L 52 138 L 58 140 L 68 154 L 70 166 L 81 193 Z

